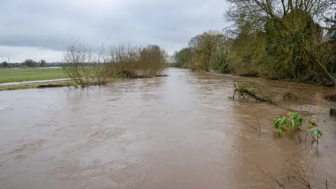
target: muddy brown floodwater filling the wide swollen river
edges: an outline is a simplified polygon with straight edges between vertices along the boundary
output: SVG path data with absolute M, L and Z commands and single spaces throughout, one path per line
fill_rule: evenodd
M 325 179 L 335 188 L 334 118 L 318 116 L 325 136 L 318 151 L 307 151 L 273 134 L 272 118 L 288 110 L 228 99 L 237 77 L 180 69 L 167 74 L 88 90 L 0 92 L 0 188 L 270 188 L 276 185 L 256 165 L 277 176 L 286 160 L 300 156 L 314 169 L 314 188 L 325 188 Z M 289 85 L 260 81 L 274 90 Z M 290 85 L 307 98 L 331 92 Z M 256 124 L 251 110 L 260 137 L 245 123 Z M 301 113 L 305 120 L 311 116 Z M 286 186 L 304 188 L 298 181 Z

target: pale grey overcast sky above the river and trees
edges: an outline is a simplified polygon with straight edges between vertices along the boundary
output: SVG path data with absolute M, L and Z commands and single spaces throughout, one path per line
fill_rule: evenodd
M 172 53 L 225 27 L 225 0 L 0 0 L 0 61 L 54 62 L 71 38 L 92 47 L 158 44 Z

